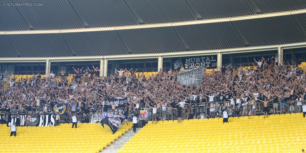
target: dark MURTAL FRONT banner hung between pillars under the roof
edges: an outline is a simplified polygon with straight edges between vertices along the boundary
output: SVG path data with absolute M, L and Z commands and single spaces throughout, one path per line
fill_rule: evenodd
M 184 68 L 187 66 L 207 66 L 208 69 L 217 68 L 217 55 L 205 55 L 205 56 L 189 56 L 189 57 L 180 57 L 180 58 L 172 58 L 172 63 L 174 65 L 174 69 L 180 69 L 181 66 Z

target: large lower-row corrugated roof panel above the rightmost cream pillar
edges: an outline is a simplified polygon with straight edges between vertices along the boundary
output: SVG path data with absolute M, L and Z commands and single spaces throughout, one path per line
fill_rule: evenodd
M 290 16 L 233 21 L 251 46 L 306 41 Z

